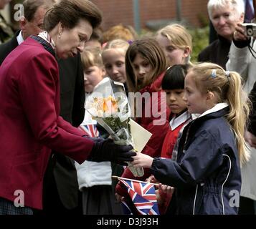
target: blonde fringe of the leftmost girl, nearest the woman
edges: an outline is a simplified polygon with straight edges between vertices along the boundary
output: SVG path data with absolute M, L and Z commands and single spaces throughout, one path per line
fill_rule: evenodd
M 88 67 L 98 66 L 103 68 L 103 59 L 101 58 L 101 50 L 98 47 L 85 47 L 81 54 L 83 69 Z

